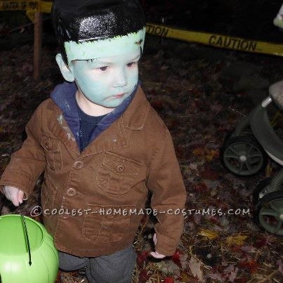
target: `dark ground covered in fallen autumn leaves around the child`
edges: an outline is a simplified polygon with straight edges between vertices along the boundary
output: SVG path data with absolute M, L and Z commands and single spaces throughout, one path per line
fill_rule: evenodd
M 34 109 L 62 82 L 55 54 L 55 48 L 44 47 L 42 79 L 36 82 L 32 46 L 0 52 L 0 173 L 22 144 Z M 256 184 L 277 171 L 277 164 L 270 162 L 253 178 L 237 178 L 219 160 L 226 134 L 268 94 L 268 84 L 282 77 L 282 58 L 180 41 L 162 45 L 147 38 L 140 79 L 171 131 L 188 211 L 178 251 L 164 261 L 148 256 L 153 224 L 143 219 L 134 242 L 138 260 L 133 282 L 282 282 L 283 239 L 254 223 L 251 197 Z M 244 78 L 254 83 L 244 84 Z M 39 203 L 38 196 L 36 190 L 24 204 L 27 215 Z M 4 213 L 18 212 L 4 198 L 2 204 Z M 87 281 L 81 272 L 59 272 L 57 282 Z

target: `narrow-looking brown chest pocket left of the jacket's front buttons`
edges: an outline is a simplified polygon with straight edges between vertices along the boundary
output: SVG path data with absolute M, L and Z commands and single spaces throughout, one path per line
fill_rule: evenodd
M 62 169 L 62 156 L 60 150 L 60 141 L 50 136 L 43 136 L 41 138 L 41 146 L 44 148 L 46 162 L 48 166 L 58 171 Z

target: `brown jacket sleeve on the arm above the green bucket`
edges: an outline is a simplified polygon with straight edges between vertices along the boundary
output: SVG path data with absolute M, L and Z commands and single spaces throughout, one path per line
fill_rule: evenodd
M 39 106 L 25 127 L 27 139 L 20 150 L 11 155 L 11 160 L 1 176 L 1 190 L 4 185 L 17 187 L 25 192 L 25 197 L 28 198 L 34 189 L 37 179 L 46 166 L 44 149 L 40 145 L 41 119 Z

